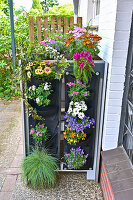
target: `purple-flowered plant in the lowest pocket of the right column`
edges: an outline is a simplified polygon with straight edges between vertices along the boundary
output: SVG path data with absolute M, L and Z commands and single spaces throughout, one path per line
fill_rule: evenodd
M 86 163 L 87 157 L 88 154 L 85 155 L 81 147 L 71 148 L 70 153 L 64 155 L 68 169 L 80 169 Z

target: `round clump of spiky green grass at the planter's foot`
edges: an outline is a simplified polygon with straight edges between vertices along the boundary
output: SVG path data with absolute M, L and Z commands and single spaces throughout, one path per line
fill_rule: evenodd
M 57 159 L 39 149 L 24 158 L 22 162 L 23 178 L 34 189 L 54 186 L 56 183 Z

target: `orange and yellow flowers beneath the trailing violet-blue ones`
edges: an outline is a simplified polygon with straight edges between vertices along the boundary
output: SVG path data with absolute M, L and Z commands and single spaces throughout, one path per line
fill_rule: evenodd
M 71 143 L 76 144 L 81 139 L 85 140 L 86 133 L 84 133 L 84 132 L 75 132 L 73 130 L 70 130 L 69 127 L 67 127 L 66 130 L 64 131 L 64 138 L 68 141 L 69 144 L 71 144 Z

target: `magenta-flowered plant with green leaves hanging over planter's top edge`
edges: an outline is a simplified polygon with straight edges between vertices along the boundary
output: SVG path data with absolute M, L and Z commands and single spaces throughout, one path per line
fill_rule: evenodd
M 74 76 L 82 80 L 85 84 L 88 83 L 88 78 L 92 77 L 92 73 L 94 73 L 93 66 L 94 61 L 92 59 L 92 54 L 87 51 L 86 53 L 84 50 L 79 53 L 76 52 L 73 56 L 74 59 Z

